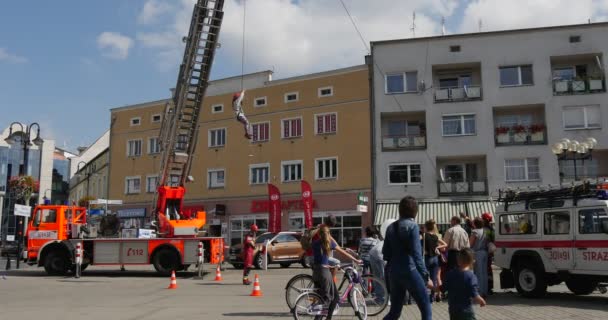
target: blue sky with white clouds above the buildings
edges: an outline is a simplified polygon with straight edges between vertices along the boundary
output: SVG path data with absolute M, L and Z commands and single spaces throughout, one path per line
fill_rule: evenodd
M 0 2 L 0 130 L 38 122 L 75 150 L 109 128 L 111 108 L 165 99 L 196 0 Z M 225 0 L 211 79 L 273 78 L 364 63 L 369 41 L 608 21 L 608 0 Z M 243 10 L 243 8 L 246 10 Z M 243 13 L 245 33 L 243 34 Z M 481 23 L 480 23 L 481 22 Z

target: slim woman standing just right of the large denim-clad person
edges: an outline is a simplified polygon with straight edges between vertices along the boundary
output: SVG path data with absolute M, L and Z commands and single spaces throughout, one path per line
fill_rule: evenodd
M 424 224 L 424 238 L 422 240 L 424 247 L 424 265 L 429 271 L 431 280 L 433 281 L 434 290 L 431 289 L 429 299 L 439 301 L 439 282 L 437 275 L 439 274 L 439 250 L 447 247 L 443 240 L 437 235 L 437 227 L 435 220 L 431 219 Z

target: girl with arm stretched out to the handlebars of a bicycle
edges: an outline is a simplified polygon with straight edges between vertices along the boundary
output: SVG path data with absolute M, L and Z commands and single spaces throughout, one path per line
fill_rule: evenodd
M 325 303 L 329 304 L 327 307 L 327 319 L 331 319 L 340 298 L 338 295 L 338 288 L 336 288 L 336 284 L 334 283 L 333 276 L 330 272 L 329 257 L 331 251 L 336 250 L 357 263 L 361 262 L 338 246 L 332 239 L 327 226 L 321 226 L 318 234 L 318 239 L 312 241 L 314 257 L 312 280 L 315 284 L 315 288 L 319 289 L 319 294 L 321 294 Z

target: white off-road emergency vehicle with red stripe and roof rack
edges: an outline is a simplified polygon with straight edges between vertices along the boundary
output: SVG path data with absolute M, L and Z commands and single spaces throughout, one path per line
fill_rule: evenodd
M 501 288 L 539 297 L 565 282 L 574 294 L 606 292 L 608 183 L 500 194 L 494 259 Z

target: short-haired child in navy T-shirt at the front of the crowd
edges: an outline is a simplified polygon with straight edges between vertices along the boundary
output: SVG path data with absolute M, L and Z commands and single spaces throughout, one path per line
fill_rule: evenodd
M 450 320 L 475 320 L 473 302 L 485 306 L 486 301 L 479 295 L 477 277 L 471 271 L 475 254 L 466 248 L 458 253 L 458 268 L 448 272 L 444 290 L 447 290 Z

